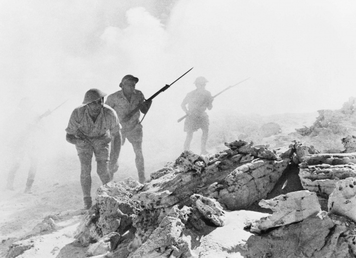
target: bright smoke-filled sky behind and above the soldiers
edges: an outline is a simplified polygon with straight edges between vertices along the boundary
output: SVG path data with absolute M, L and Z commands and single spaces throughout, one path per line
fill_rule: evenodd
M 184 139 L 198 76 L 213 95 L 250 78 L 214 100 L 215 118 L 340 109 L 356 96 L 355 13 L 354 0 L 2 0 L 0 122 L 23 97 L 40 114 L 66 101 L 45 127 L 73 154 L 64 129 L 89 88 L 110 94 L 132 74 L 148 98 L 192 67 L 154 99 L 147 136 Z

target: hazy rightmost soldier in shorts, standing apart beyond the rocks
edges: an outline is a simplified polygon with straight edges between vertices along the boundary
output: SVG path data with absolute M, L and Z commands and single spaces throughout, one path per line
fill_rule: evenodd
M 211 110 L 213 108 L 213 97 L 210 91 L 205 89 L 207 83 L 207 79 L 202 76 L 198 77 L 194 82 L 197 88 L 189 92 L 180 105 L 183 111 L 188 115 L 184 122 L 184 131 L 187 133 L 184 142 L 184 150 L 190 149 L 190 142 L 193 138 L 193 133 L 198 129 L 202 129 L 202 154 L 208 153 L 206 150 L 206 143 L 209 134 L 209 117 L 205 110 Z M 188 108 L 186 105 L 188 105 Z

